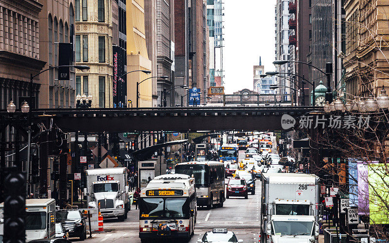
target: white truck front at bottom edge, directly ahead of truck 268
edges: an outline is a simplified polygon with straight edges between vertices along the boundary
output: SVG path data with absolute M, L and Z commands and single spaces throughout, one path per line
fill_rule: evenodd
M 314 243 L 318 235 L 314 216 L 272 215 L 264 238 L 267 243 Z

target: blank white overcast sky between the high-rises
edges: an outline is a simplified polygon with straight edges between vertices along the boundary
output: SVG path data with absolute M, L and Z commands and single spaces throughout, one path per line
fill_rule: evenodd
M 224 0 L 224 86 L 227 94 L 253 89 L 252 66 L 274 71 L 275 0 Z

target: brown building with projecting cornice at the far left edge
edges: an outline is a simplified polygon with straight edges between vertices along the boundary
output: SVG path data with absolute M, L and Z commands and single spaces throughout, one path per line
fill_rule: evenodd
M 43 31 L 39 28 L 44 26 L 41 21 L 47 21 L 47 17 L 40 19 L 38 16 L 42 7 L 34 0 L 0 0 L 0 109 L 6 109 L 11 100 L 20 108 L 20 104 L 30 96 L 30 75 L 37 74 L 45 66 L 39 45 L 39 31 Z M 62 20 L 61 24 L 63 38 Z M 35 104 L 30 106 L 36 108 L 42 96 L 41 79 L 42 75 L 36 77 L 33 83 L 36 99 Z

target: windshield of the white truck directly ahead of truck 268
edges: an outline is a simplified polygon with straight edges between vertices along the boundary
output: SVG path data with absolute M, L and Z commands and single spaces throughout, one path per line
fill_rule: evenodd
M 311 235 L 313 222 L 273 221 L 275 235 Z

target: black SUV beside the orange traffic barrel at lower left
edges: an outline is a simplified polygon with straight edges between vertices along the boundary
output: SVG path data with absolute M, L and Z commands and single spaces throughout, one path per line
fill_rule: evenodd
M 69 232 L 69 237 L 87 238 L 87 224 L 78 209 L 61 209 L 55 213 L 57 223 L 62 223 Z

